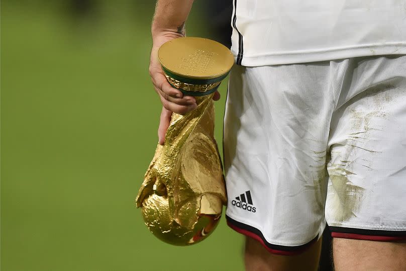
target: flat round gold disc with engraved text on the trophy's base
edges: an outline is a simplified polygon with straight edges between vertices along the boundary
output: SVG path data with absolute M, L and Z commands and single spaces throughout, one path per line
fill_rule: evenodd
M 158 50 L 158 58 L 165 73 L 189 79 L 222 77 L 234 64 L 234 56 L 226 46 L 196 37 L 165 42 Z

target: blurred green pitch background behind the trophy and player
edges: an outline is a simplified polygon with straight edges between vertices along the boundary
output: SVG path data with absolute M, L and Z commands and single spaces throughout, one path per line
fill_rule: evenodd
M 155 1 L 88 3 L 1 3 L 1 269 L 243 270 L 224 217 L 189 247 L 145 227 L 134 198 L 161 109 L 148 75 Z M 208 34 L 200 5 L 188 36 Z M 220 92 L 222 149 L 226 82 Z

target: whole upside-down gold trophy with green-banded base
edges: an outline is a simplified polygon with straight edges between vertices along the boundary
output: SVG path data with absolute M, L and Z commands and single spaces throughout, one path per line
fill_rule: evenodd
M 173 245 L 190 245 L 216 228 L 227 202 L 214 138 L 213 95 L 234 63 L 230 50 L 203 38 L 178 38 L 158 51 L 169 83 L 195 96 L 197 108 L 172 114 L 136 198 L 149 230 Z

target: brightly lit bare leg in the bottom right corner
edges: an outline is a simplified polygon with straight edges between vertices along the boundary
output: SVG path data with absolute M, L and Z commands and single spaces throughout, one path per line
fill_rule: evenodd
M 337 271 L 406 270 L 406 243 L 334 238 L 333 257 Z

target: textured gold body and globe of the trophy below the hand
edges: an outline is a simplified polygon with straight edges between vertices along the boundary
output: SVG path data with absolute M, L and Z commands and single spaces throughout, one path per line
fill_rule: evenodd
M 206 238 L 227 201 L 212 98 L 196 97 L 197 109 L 172 115 L 165 145 L 157 146 L 136 198 L 149 230 L 170 244 Z

